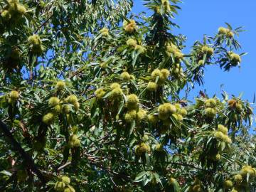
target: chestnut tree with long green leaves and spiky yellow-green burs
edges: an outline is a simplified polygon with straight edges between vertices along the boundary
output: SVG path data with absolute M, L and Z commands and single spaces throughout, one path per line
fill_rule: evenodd
M 250 103 L 188 100 L 242 28 L 184 53 L 180 1 L 144 2 L 0 2 L 0 191 L 255 191 Z

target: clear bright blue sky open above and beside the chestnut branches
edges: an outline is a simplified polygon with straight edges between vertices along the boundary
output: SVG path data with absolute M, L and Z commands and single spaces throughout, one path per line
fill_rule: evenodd
M 182 33 L 187 36 L 186 46 L 189 48 L 196 40 L 201 40 L 204 34 L 209 36 L 217 33 L 218 27 L 225 26 L 228 22 L 237 28 L 244 26 L 245 30 L 238 38 L 242 50 L 238 53 L 247 52 L 248 55 L 242 57 L 241 68 L 233 68 L 230 72 L 224 72 L 218 65 L 208 66 L 205 73 L 205 84 L 191 92 L 191 96 L 196 96 L 199 90 L 207 90 L 209 96 L 217 94 L 220 96 L 222 90 L 238 96 L 243 93 L 242 98 L 252 102 L 256 93 L 256 1 L 255 0 L 183 0 L 180 4 L 181 11 L 175 18 L 175 22 L 181 27 L 174 33 Z M 134 13 L 146 11 L 143 1 L 135 0 Z M 223 85 L 221 88 L 220 85 Z

